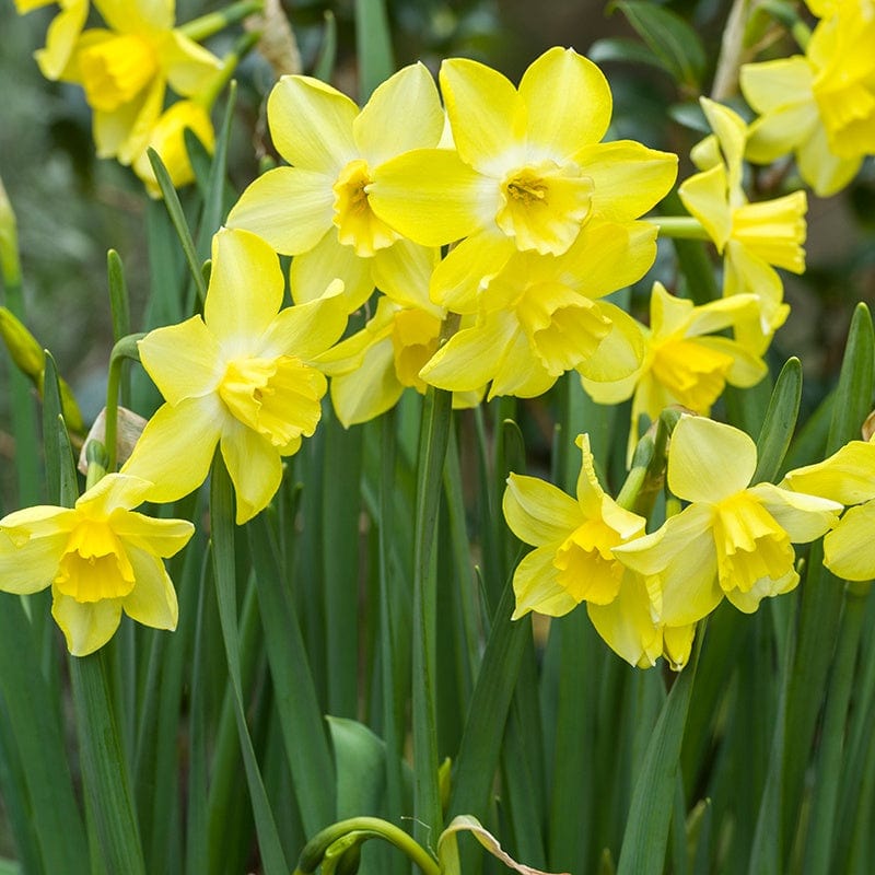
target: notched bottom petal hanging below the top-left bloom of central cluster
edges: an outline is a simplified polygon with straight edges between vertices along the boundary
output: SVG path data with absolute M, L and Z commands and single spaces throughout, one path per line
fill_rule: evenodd
M 347 313 L 358 310 L 374 291 L 371 276 L 373 259 L 355 255 L 352 246 L 343 246 L 331 229 L 310 252 L 292 259 L 289 285 L 295 304 L 307 304 L 325 294 L 336 280 L 343 283 Z

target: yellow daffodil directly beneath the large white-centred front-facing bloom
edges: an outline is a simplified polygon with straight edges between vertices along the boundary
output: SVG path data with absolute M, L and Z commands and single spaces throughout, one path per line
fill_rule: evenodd
M 655 236 L 646 222 L 602 222 L 584 229 L 563 255 L 514 253 L 479 295 L 456 301 L 477 320 L 453 335 L 420 376 L 454 392 L 491 381 L 490 398 L 541 395 L 573 369 L 595 380 L 627 376 L 644 352 L 641 330 L 598 299 L 648 271 Z

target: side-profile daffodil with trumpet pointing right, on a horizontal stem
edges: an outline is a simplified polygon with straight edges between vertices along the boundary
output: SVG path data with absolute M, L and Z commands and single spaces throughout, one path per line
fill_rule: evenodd
M 684 206 L 704 226 L 723 259 L 723 294 L 759 295 L 761 315 L 736 326 L 736 338 L 754 352 L 768 347 L 783 325 L 789 307 L 775 267 L 805 270 L 804 191 L 750 203 L 743 188 L 743 160 L 747 128 L 732 109 L 702 97 L 700 101 L 714 136 L 693 149 L 702 170 L 678 188 Z

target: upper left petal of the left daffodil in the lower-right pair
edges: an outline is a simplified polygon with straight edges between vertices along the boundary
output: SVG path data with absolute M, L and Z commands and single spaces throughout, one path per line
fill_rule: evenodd
M 508 477 L 501 506 L 511 532 L 534 547 L 559 546 L 583 522 L 583 512 L 571 495 L 523 474 Z

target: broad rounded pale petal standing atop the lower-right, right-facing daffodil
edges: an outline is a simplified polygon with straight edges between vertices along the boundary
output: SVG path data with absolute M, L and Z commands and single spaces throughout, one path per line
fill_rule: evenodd
M 668 487 L 685 501 L 715 503 L 740 492 L 756 467 L 756 444 L 732 425 L 684 416 L 672 432 Z

